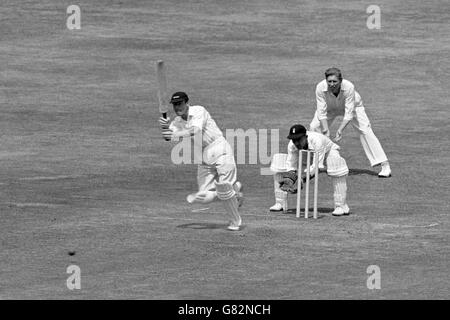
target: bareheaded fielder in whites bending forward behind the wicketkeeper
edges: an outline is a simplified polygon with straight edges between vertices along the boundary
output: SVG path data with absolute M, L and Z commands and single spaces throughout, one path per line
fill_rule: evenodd
M 353 83 L 342 78 L 342 73 L 337 68 L 325 71 L 325 80 L 316 86 L 317 109 L 314 118 L 309 125 L 311 131 L 322 132 L 330 137 L 328 121 L 332 122 L 337 116 L 344 116 L 339 129 L 336 131 L 335 141 L 342 139 L 342 132 L 351 122 L 359 134 L 359 139 L 366 153 L 370 165 L 381 164 L 380 178 L 391 176 L 389 161 L 384 153 L 378 138 L 372 131 L 369 118 L 359 93 Z M 323 163 L 319 164 L 323 167 Z

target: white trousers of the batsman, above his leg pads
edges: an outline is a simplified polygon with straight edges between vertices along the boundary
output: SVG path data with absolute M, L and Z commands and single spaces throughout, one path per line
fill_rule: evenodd
M 197 169 L 199 191 L 216 191 L 215 181 L 234 185 L 236 175 L 233 150 L 224 137 L 204 148 L 203 162 Z

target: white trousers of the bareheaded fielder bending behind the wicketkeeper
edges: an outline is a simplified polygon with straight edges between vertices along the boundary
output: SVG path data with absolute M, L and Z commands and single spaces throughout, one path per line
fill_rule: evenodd
M 328 115 L 329 126 L 331 126 L 331 123 L 336 117 L 336 115 Z M 369 159 L 370 161 L 370 165 L 373 167 L 379 165 L 382 162 L 388 161 L 380 141 L 375 136 L 375 133 L 371 128 L 370 121 L 367 117 L 364 106 L 355 108 L 351 124 L 359 134 L 359 140 L 361 141 L 367 159 Z M 314 114 L 313 120 L 309 124 L 309 130 L 322 132 L 320 128 L 320 121 L 317 117 L 317 111 Z

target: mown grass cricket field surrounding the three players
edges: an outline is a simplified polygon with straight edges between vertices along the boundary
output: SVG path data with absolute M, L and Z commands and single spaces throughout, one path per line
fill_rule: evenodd
M 2 0 L 0 298 L 448 299 L 449 18 L 444 0 Z M 185 201 L 196 166 L 172 164 L 160 136 L 158 59 L 221 129 L 279 129 L 282 150 L 340 67 L 393 177 L 374 175 L 349 126 L 353 214 L 331 215 L 325 174 L 320 219 L 269 213 L 272 178 L 239 165 L 245 228 L 226 231 L 220 203 Z

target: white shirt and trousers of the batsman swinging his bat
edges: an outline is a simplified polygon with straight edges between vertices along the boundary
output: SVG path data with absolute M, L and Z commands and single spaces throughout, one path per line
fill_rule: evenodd
M 202 156 L 202 164 L 199 164 L 197 172 L 199 191 L 214 190 L 214 181 L 216 180 L 233 185 L 236 182 L 236 162 L 233 150 L 204 107 L 189 106 L 187 121 L 177 116 L 169 126 L 174 132 L 192 127 L 201 130 L 200 137 L 191 137 L 194 141 L 194 152 L 202 153 L 201 155 L 194 154 L 197 159 Z

